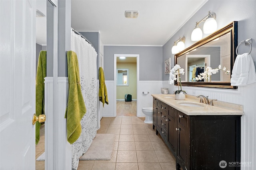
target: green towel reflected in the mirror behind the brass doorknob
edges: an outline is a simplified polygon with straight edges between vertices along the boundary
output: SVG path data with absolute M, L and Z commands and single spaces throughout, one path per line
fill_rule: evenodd
M 36 116 L 44 114 L 44 78 L 46 77 L 46 51 L 40 51 L 36 72 Z M 36 145 L 40 139 L 41 123 L 36 122 Z

